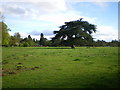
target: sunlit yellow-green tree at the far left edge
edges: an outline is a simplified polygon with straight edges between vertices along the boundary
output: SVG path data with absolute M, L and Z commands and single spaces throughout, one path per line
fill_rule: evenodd
M 10 29 L 4 22 L 0 22 L 0 32 L 2 32 L 2 45 L 9 45 L 10 35 L 8 33 Z

